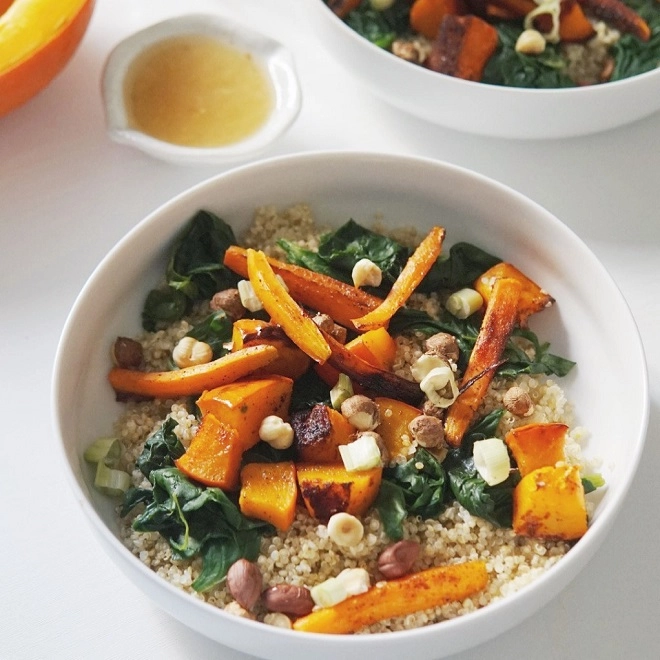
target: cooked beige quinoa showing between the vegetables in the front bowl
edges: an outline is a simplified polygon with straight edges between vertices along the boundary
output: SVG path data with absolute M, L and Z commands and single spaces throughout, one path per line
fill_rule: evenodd
M 273 207 L 264 207 L 256 211 L 254 223 L 245 237 L 242 237 L 242 242 L 244 245 L 263 248 L 270 254 L 277 254 L 273 245 L 280 237 L 295 237 L 299 244 L 313 246 L 316 245 L 318 234 L 319 229 L 309 206 L 299 204 L 281 212 Z M 408 238 L 410 243 L 414 243 L 414 236 L 409 232 Z M 433 314 L 438 312 L 442 301 L 437 295 L 416 294 L 409 304 Z M 147 368 L 167 368 L 172 348 L 190 326 L 190 321 L 185 320 L 140 337 Z M 394 371 L 397 374 L 411 378 L 410 367 L 424 352 L 423 341 L 424 337 L 418 333 L 396 338 Z M 505 413 L 497 435 L 503 437 L 514 426 L 530 422 L 567 424 L 571 430 L 566 439 L 566 460 L 581 465 L 580 444 L 587 437 L 587 432 L 583 428 L 573 427 L 573 409 L 561 387 L 543 375 L 523 375 L 515 380 L 515 384 L 531 397 L 534 403 L 533 414 L 523 419 Z M 480 414 L 501 407 L 504 393 L 511 385 L 511 381 L 494 378 Z M 146 487 L 148 482 L 135 467 L 136 459 L 145 440 L 168 415 L 178 422 L 175 432 L 183 446 L 188 447 L 197 431 L 198 420 L 191 412 L 189 402 L 185 400 L 128 403 L 116 423 L 115 433 L 122 446 L 121 466 L 130 472 L 133 485 L 137 487 Z M 414 450 L 414 441 L 410 440 L 410 453 Z M 225 608 L 233 602 L 224 581 L 206 592 L 196 592 L 192 584 L 200 574 L 201 560 L 174 561 L 169 544 L 163 537 L 158 533 L 136 532 L 131 522 L 131 516 L 120 518 L 122 542 L 155 573 L 192 596 L 219 608 Z M 299 507 L 289 530 L 262 539 L 257 563 L 264 585 L 288 583 L 311 588 L 336 576 L 345 568 L 364 568 L 370 575 L 377 574 L 378 555 L 392 541 L 385 534 L 374 508 L 362 517 L 362 523 L 362 541 L 355 547 L 341 548 L 329 538 L 325 524 L 313 519 L 304 508 Z M 458 503 L 450 505 L 436 519 L 408 517 L 403 524 L 403 536 L 404 539 L 417 541 L 422 548 L 414 570 L 480 559 L 487 567 L 488 585 L 483 591 L 462 602 L 380 621 L 360 633 L 407 630 L 475 611 L 533 582 L 557 563 L 571 546 L 564 541 L 517 536 L 511 529 L 498 528 L 470 514 Z M 263 621 L 267 612 L 260 607 L 257 605 L 254 614 L 258 620 Z

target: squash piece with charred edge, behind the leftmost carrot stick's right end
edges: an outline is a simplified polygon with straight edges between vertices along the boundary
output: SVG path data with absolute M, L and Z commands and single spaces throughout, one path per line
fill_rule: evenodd
M 309 369 L 310 358 L 285 334 L 280 326 L 259 319 L 239 319 L 232 330 L 232 351 L 247 346 L 268 344 L 275 346 L 277 357 L 255 375 L 279 374 L 296 380 Z

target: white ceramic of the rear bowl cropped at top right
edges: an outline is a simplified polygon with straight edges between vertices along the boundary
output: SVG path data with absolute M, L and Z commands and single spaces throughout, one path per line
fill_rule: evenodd
M 367 89 L 417 117 L 503 138 L 565 138 L 596 133 L 660 109 L 660 68 L 604 85 L 520 89 L 461 80 L 406 62 L 348 27 L 323 0 L 305 3 L 328 54 Z

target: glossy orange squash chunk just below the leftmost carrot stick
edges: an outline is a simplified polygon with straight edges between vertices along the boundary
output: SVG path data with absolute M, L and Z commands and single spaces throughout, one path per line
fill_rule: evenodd
M 245 451 L 259 442 L 259 427 L 264 417 L 288 418 L 292 389 L 290 378 L 273 374 L 208 390 L 197 400 L 197 405 L 202 415 L 213 413 L 235 429 Z

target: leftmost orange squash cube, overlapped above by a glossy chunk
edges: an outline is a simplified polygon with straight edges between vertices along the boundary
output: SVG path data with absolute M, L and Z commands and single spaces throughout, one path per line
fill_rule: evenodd
M 236 490 L 243 445 L 236 429 L 205 415 L 188 450 L 174 464 L 186 476 L 223 490 Z

